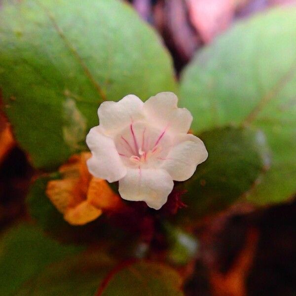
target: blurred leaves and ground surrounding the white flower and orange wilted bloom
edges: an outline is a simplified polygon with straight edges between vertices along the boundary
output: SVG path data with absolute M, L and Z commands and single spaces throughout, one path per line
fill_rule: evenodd
M 296 295 L 296 1 L 123 2 L 0 0 L 0 295 Z M 159 212 L 65 222 L 46 185 L 99 104 L 161 91 L 208 160 Z

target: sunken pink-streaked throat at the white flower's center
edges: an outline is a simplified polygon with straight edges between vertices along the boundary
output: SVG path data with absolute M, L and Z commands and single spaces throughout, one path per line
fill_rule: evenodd
M 157 167 L 165 160 L 171 146 L 166 130 L 131 123 L 115 137 L 118 154 L 129 167 Z

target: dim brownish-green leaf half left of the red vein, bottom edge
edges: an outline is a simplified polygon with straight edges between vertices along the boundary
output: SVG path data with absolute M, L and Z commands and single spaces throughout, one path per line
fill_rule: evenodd
M 94 296 L 115 261 L 104 252 L 87 252 L 47 266 L 17 296 Z M 120 295 L 120 294 L 119 294 Z

